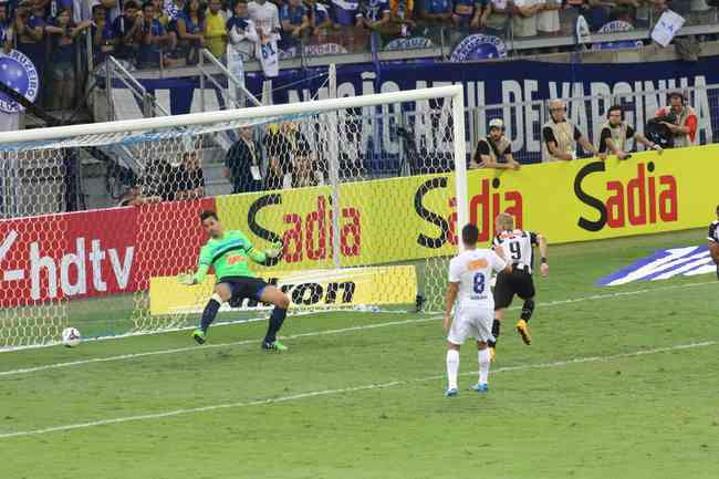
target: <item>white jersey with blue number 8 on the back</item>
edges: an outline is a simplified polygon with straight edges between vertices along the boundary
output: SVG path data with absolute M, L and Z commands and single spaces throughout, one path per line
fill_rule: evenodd
M 507 267 L 497 253 L 488 249 L 467 250 L 449 262 L 449 282 L 459 283 L 457 304 L 461 308 L 494 309 L 494 298 L 490 290 L 492 271 Z

